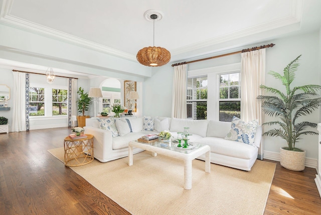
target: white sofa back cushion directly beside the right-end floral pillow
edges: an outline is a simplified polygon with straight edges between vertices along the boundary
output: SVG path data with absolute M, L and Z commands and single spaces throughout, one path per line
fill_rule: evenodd
M 224 138 L 226 134 L 231 129 L 230 122 L 221 122 L 221 121 L 209 121 L 209 126 L 207 128 L 207 137 L 221 137 Z

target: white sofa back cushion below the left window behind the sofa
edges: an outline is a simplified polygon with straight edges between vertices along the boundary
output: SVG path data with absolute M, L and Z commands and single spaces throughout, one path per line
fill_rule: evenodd
M 206 137 L 208 121 L 206 119 L 191 120 L 172 118 L 170 131 L 183 132 L 184 127 L 189 127 L 189 132 L 191 134 L 198 134 L 202 137 Z

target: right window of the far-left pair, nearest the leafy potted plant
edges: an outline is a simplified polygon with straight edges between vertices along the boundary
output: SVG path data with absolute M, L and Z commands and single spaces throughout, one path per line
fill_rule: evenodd
M 52 115 L 67 115 L 68 90 L 52 89 Z

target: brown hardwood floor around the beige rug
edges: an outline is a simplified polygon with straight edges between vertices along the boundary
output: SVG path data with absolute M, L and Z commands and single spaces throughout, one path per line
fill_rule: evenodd
M 0 134 L 0 214 L 130 214 L 47 151 L 62 147 L 69 133 Z M 316 170 L 294 172 L 275 163 L 264 214 L 321 214 Z

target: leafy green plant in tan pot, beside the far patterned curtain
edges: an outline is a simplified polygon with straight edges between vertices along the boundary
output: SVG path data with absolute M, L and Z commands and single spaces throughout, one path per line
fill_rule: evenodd
M 84 89 L 79 87 L 79 90 L 77 91 L 79 97 L 77 99 L 78 103 L 78 112 L 82 113 L 82 116 L 77 116 L 78 126 L 84 127 L 86 126 L 86 118 L 89 118 L 90 116 L 85 116 L 85 111 L 88 110 L 88 106 L 90 103 L 90 97 L 88 97 L 88 93 L 84 92 Z

